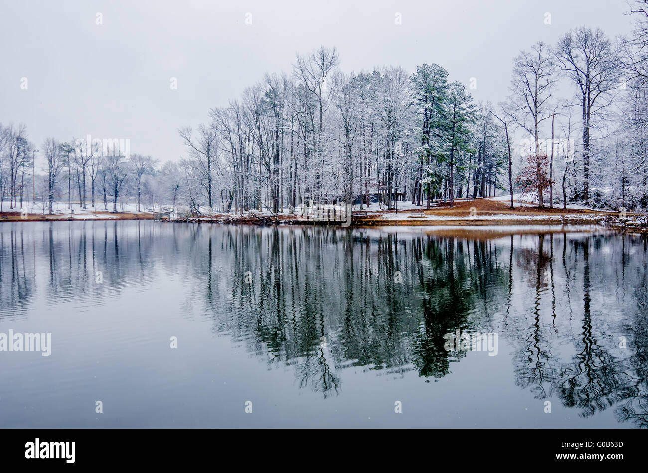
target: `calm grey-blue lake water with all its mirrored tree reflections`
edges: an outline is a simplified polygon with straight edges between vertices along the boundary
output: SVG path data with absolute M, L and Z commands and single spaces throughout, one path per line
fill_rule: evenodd
M 647 243 L 2 223 L 0 427 L 646 427 Z

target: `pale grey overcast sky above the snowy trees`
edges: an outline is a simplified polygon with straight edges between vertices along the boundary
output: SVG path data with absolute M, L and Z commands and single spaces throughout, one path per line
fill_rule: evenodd
M 207 121 L 266 71 L 290 72 L 297 51 L 335 46 L 347 72 L 438 63 L 498 102 L 520 49 L 581 25 L 625 34 L 628 10 L 625 0 L 0 0 L 0 123 L 26 124 L 37 148 L 50 136 L 128 138 L 131 153 L 177 160 L 179 127 Z

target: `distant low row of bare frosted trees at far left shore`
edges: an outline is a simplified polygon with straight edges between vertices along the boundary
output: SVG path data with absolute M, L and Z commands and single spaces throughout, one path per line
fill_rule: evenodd
M 45 163 L 41 173 L 35 165 L 36 152 Z M 157 169 L 157 160 L 150 156 L 124 156 L 119 149 L 104 153 L 102 144 L 86 144 L 84 140 L 60 142 L 46 138 L 41 149 L 27 137 L 27 127 L 0 124 L 0 212 L 40 207 L 52 214 L 54 203 L 67 202 L 67 208 L 104 208 L 123 210 L 117 204 L 137 202 L 141 210 L 142 197 L 150 209 L 159 206 L 167 195 L 165 172 L 175 172 L 168 166 Z M 114 151 L 114 152 L 113 152 Z

